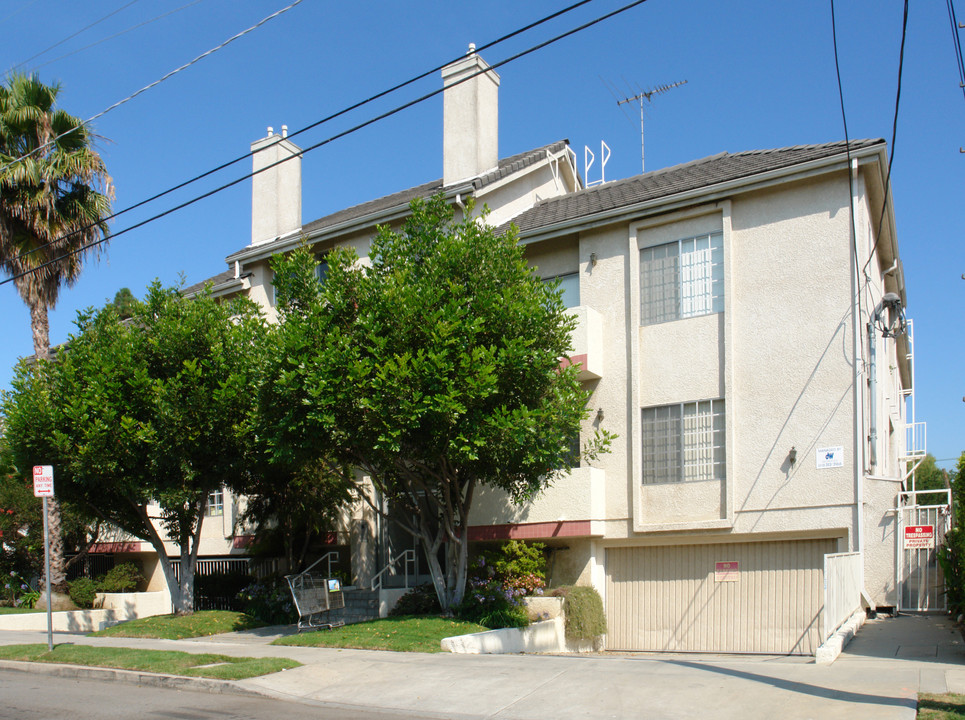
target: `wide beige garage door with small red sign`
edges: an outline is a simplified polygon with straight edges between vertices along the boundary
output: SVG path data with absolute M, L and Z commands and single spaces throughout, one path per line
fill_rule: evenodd
M 608 548 L 607 648 L 813 654 L 835 550 L 833 539 Z

